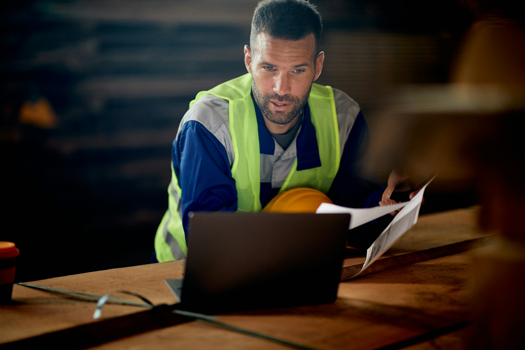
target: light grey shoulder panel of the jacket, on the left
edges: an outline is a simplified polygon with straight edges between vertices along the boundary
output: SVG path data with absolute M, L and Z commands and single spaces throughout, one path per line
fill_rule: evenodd
M 214 95 L 203 96 L 182 117 L 178 126 L 177 138 L 184 124 L 190 120 L 201 123 L 224 146 L 231 167 L 235 155 L 232 136 L 229 132 L 228 101 Z

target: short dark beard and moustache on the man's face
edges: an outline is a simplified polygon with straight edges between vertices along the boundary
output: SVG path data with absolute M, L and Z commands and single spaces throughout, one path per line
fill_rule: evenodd
M 272 94 L 267 95 L 261 95 L 259 90 L 257 89 L 257 85 L 255 84 L 255 80 L 253 83 L 253 90 L 254 90 L 254 97 L 257 101 L 257 104 L 259 105 L 259 108 L 269 121 L 272 123 L 276 123 L 279 125 L 286 125 L 290 123 L 301 110 L 303 109 L 304 105 L 308 102 L 308 97 L 310 97 L 310 91 L 312 89 L 312 86 L 310 85 L 310 88 L 304 94 L 300 97 L 295 97 L 290 94 L 286 95 L 279 95 L 277 92 L 273 92 Z M 293 108 L 289 111 L 277 111 L 270 107 L 270 100 L 284 102 L 287 104 L 291 104 Z

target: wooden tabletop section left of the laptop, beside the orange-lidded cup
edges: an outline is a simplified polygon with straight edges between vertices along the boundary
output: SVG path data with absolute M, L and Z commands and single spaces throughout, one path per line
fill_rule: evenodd
M 172 304 L 175 297 L 164 279 L 181 278 L 183 261 L 124 267 L 33 282 L 58 289 L 104 295 L 128 290 L 148 297 L 154 304 Z M 125 296 L 122 296 L 125 297 Z M 133 297 L 130 301 L 140 302 Z M 93 323 L 95 303 L 78 297 L 13 286 L 13 304 L 0 306 L 0 343 Z M 114 317 L 143 311 L 142 307 L 108 304 L 102 316 Z

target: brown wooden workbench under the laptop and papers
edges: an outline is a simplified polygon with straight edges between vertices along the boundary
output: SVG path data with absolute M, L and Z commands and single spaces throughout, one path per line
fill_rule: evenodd
M 476 215 L 476 208 L 425 215 L 385 256 L 487 236 L 476 228 Z M 469 256 L 480 249 L 342 282 L 333 304 L 238 312 L 221 315 L 220 320 L 320 349 L 404 347 L 409 343 L 397 343 L 469 320 Z M 344 265 L 363 261 L 364 256 L 352 256 Z M 172 304 L 175 298 L 164 279 L 181 278 L 183 273 L 184 261 L 173 261 L 32 283 L 97 295 L 128 290 L 154 304 Z M 312 276 L 312 287 L 314 283 Z M 108 304 L 102 319 L 93 320 L 96 305 L 92 301 L 19 285 L 14 286 L 13 300 L 13 305 L 0 306 L 0 348 L 284 348 L 135 306 Z M 464 333 L 448 333 L 409 348 L 432 348 L 436 342 L 462 348 Z

